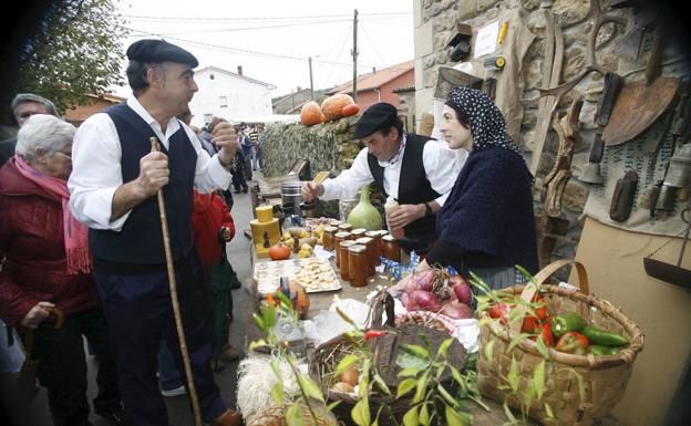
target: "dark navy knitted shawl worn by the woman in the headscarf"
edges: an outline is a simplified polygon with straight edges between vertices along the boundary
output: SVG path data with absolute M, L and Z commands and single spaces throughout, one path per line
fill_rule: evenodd
M 471 153 L 437 212 L 440 240 L 427 262 L 460 270 L 520 264 L 537 272 L 532 183 L 523 157 L 512 150 Z

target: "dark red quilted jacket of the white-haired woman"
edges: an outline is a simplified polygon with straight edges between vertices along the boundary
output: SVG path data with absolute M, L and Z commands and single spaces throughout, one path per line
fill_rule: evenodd
M 40 301 L 65 314 L 99 305 L 91 274 L 69 274 L 62 200 L 23 177 L 10 159 L 0 168 L 0 318 L 17 325 Z

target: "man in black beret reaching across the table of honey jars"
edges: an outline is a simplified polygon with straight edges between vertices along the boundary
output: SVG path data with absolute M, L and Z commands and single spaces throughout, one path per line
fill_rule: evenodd
M 395 106 L 385 102 L 362 114 L 354 137 L 367 147 L 352 166 L 323 185 L 305 183 L 302 197 L 350 199 L 363 185 L 377 181 L 400 206 L 386 218 L 389 229 L 403 228 L 401 246 L 424 253 L 436 238 L 435 214 L 460 172 L 455 154 L 446 144 L 405 133 Z

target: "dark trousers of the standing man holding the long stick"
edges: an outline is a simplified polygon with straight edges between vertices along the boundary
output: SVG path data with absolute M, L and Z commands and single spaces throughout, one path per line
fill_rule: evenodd
M 115 274 L 94 271 L 96 288 L 109 322 L 125 412 L 133 426 L 167 425 L 166 406 L 156 371 L 162 339 L 184 372 L 173 318 L 168 277 L 159 272 Z M 208 285 L 196 254 L 175 262 L 175 280 L 183 328 L 199 407 L 210 423 L 226 411 L 210 368 L 212 305 Z

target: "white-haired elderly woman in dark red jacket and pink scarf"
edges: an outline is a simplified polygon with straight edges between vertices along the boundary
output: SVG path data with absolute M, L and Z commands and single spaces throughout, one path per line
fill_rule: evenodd
M 48 388 L 53 425 L 90 425 L 86 336 L 99 360 L 97 414 L 121 424 L 122 406 L 105 319 L 90 273 L 87 230 L 70 212 L 66 179 L 76 128 L 31 116 L 16 155 L 0 169 L 0 318 L 33 330 L 38 378 Z M 52 308 L 64 315 L 55 330 Z

